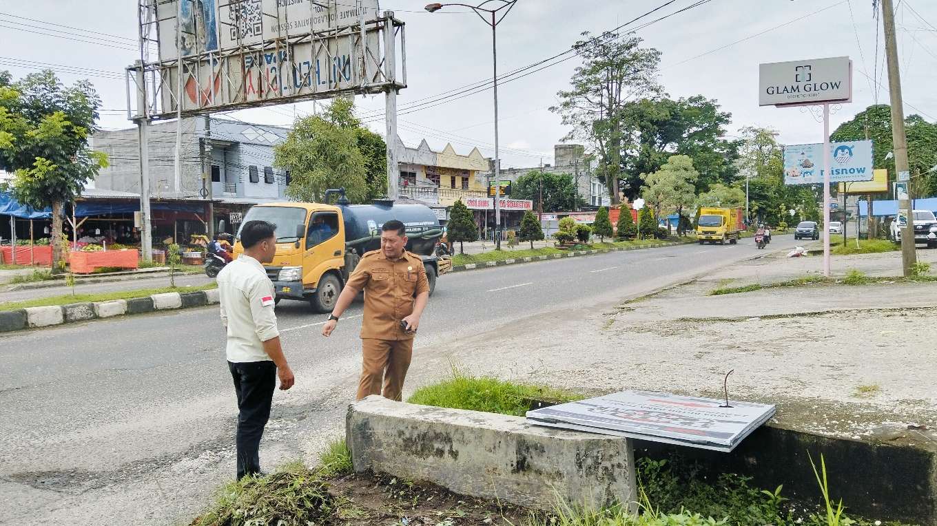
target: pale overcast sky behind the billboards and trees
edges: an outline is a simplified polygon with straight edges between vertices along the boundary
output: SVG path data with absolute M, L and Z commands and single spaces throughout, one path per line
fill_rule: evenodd
M 498 70 L 508 72 L 565 51 L 583 31 L 614 28 L 664 1 L 518 0 L 498 25 Z M 458 12 L 460 7 L 426 13 L 425 3 L 384 0 L 380 5 L 407 23 L 409 87 L 398 97 L 401 113 L 412 101 L 491 77 L 488 26 L 474 14 Z M 642 22 L 693 3 L 677 0 Z M 937 2 L 896 3 L 905 112 L 937 121 Z M 0 69 L 22 77 L 38 66 L 54 65 L 66 82 L 88 78 L 104 101 L 101 124 L 127 127 L 131 124 L 120 111 L 126 108 L 121 72 L 136 55 L 132 51 L 136 4 L 136 0 L 0 0 Z M 645 46 L 662 51 L 661 81 L 669 95 L 717 99 L 733 115 L 729 134 L 744 125 L 771 126 L 781 132 L 781 142 L 797 144 L 821 141 L 822 124 L 806 110 L 759 108 L 758 64 L 850 56 L 854 101 L 833 115 L 835 129 L 876 99 L 888 101 L 884 40 L 881 30 L 876 31 L 876 23 L 879 27 L 881 23 L 872 15 L 871 0 L 712 0 L 641 29 L 638 35 Z M 568 87 L 578 64 L 573 57 L 499 86 L 502 166 L 536 166 L 541 156 L 544 163 L 552 162 L 553 145 L 569 130 L 547 109 L 557 102 L 557 92 Z M 358 105 L 363 115 L 382 112 L 383 96 L 358 97 Z M 298 104 L 296 110 L 311 112 L 312 103 Z M 292 114 L 291 105 L 233 113 L 260 124 L 290 124 Z M 426 139 L 439 150 L 451 141 L 459 153 L 478 146 L 493 156 L 492 122 L 489 90 L 402 114 L 399 135 L 412 145 Z M 369 125 L 383 134 L 382 122 Z

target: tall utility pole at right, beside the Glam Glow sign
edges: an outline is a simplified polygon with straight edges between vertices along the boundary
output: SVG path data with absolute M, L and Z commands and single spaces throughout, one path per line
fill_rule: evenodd
M 891 138 L 894 143 L 895 170 L 898 181 L 909 181 L 908 144 L 904 135 L 904 106 L 901 100 L 901 77 L 898 63 L 898 42 L 895 38 L 895 11 L 891 0 L 881 0 L 882 22 L 885 25 L 885 56 L 888 60 L 888 95 L 891 97 Z M 898 201 L 899 217 L 903 211 L 907 221 L 901 232 L 901 266 L 910 276 L 917 260 L 915 253 L 915 216 L 911 207 L 911 185 L 907 198 Z M 898 197 L 898 196 L 896 196 Z

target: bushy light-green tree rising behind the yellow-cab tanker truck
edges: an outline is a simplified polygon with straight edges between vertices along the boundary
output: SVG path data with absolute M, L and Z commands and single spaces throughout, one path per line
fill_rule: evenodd
M 329 188 L 344 187 L 352 201 L 362 202 L 386 193 L 386 145 L 353 109 L 353 100 L 337 97 L 319 115 L 297 119 L 274 147 L 275 166 L 290 171 L 288 197 L 321 202 Z

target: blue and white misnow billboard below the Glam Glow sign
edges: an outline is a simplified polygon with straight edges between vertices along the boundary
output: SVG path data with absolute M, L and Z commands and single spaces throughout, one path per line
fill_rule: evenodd
M 872 141 L 831 142 L 830 183 L 871 181 Z M 784 147 L 784 184 L 823 183 L 823 144 Z

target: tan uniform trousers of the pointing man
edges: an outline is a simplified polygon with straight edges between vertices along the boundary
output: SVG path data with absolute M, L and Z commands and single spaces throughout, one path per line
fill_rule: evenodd
M 404 378 L 407 377 L 410 358 L 413 356 L 413 339 L 376 340 L 362 339 L 362 372 L 358 384 L 357 400 L 368 395 L 379 394 L 384 398 L 401 402 Z M 383 392 L 381 392 L 383 380 Z

